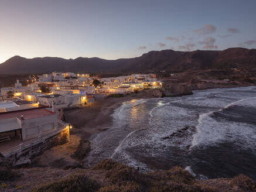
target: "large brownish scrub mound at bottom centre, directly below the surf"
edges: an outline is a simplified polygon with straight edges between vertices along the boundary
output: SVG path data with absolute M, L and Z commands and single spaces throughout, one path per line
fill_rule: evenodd
M 181 167 L 173 167 L 168 171 L 140 173 L 138 170 L 114 162 L 113 160 L 103 160 L 94 166 L 94 169 L 108 170 L 106 177 L 110 185 L 102 187 L 99 191 L 184 191 L 184 192 L 214 192 L 215 188 L 205 184 L 197 183 L 194 177 Z

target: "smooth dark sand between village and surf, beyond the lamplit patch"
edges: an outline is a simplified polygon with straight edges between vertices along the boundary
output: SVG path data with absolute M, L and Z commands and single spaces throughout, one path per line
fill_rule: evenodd
M 145 94 L 130 94 L 120 98 L 108 98 L 107 95 L 96 95 L 96 102 L 93 107 L 66 109 L 64 111 L 65 121 L 74 128 L 71 134 L 88 140 L 91 135 L 107 130 L 112 126 L 112 114 L 123 102 L 152 98 Z

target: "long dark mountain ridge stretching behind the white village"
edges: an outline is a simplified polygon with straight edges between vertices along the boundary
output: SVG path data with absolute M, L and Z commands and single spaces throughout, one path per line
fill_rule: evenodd
M 62 59 L 14 56 L 0 64 L 1 74 L 38 74 L 52 71 L 87 73 L 146 73 L 157 70 L 189 71 L 208 68 L 256 68 L 256 49 L 230 48 L 223 51 L 152 51 L 131 59 L 105 60 L 97 57 Z

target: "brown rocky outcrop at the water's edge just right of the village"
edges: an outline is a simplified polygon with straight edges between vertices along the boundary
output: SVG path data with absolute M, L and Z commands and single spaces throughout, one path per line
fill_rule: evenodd
M 181 95 L 191 95 L 193 92 L 192 89 L 187 87 L 186 84 L 174 84 L 166 81 L 163 84 L 162 94 L 165 97 L 174 97 Z

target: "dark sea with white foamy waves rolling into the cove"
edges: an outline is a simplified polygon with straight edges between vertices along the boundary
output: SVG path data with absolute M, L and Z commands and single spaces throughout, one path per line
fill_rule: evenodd
M 112 158 L 141 170 L 182 166 L 200 179 L 256 179 L 256 87 L 124 102 L 91 139 L 90 166 Z

